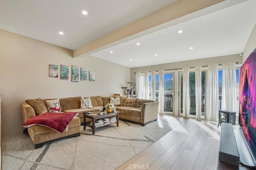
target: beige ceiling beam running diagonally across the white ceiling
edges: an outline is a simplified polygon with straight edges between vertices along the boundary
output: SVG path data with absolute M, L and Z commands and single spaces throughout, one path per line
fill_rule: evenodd
M 224 0 L 178 0 L 169 6 L 166 6 L 160 10 L 157 10 L 156 12 L 140 18 L 139 20 L 133 21 L 132 23 L 120 27 L 119 29 L 99 37 L 90 43 L 82 45 L 73 51 L 73 57 L 75 58 L 88 56 L 92 53 L 96 53 L 97 51 L 140 37 L 143 35 L 143 32 L 145 35 L 146 33 L 153 32 L 153 30 L 157 31 L 157 26 L 158 30 L 163 29 L 160 28 L 159 25 L 164 25 L 164 23 L 174 21 L 178 18 L 186 17 L 188 14 L 192 14 L 223 1 Z

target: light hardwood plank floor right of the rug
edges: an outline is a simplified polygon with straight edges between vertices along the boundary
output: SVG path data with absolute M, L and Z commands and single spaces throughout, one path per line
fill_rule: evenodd
M 116 170 L 217 169 L 220 140 L 220 127 L 217 128 L 217 122 L 183 119 L 172 115 L 160 115 L 159 119 L 168 121 L 170 126 L 174 127 L 172 131 Z M 223 164 L 221 168 L 218 167 L 218 169 L 234 168 L 236 167 Z M 246 168 L 239 166 L 239 169 Z

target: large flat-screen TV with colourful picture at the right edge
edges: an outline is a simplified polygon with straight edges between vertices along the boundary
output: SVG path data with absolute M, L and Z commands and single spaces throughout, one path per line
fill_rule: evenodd
M 256 49 L 240 69 L 239 125 L 256 159 Z

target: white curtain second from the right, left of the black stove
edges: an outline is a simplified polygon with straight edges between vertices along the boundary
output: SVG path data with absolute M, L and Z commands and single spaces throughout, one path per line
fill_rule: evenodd
M 206 81 L 206 115 L 208 121 L 218 120 L 218 100 L 219 100 L 219 86 L 218 86 L 218 65 L 208 66 L 208 78 Z

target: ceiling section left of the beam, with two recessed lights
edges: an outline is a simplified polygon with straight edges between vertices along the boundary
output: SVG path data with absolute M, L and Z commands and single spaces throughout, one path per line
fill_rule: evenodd
M 0 28 L 74 50 L 175 1 L 0 0 Z

